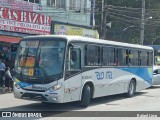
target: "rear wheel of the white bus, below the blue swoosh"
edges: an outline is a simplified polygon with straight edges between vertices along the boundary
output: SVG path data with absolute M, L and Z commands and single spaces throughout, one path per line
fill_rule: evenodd
M 128 86 L 127 97 L 134 96 L 135 91 L 136 91 L 136 82 L 135 80 L 131 80 Z

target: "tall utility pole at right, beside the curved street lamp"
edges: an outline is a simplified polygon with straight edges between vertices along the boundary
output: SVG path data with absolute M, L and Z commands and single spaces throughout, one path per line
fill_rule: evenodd
M 145 25 L 145 0 L 142 0 L 142 15 L 141 15 L 141 33 L 140 33 L 140 44 L 143 45 L 144 41 L 144 25 Z

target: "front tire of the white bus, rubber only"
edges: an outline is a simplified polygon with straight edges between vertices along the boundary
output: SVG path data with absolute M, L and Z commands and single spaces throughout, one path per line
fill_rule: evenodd
M 85 85 L 82 91 L 80 105 L 82 107 L 88 107 L 91 100 L 91 88 L 89 85 Z

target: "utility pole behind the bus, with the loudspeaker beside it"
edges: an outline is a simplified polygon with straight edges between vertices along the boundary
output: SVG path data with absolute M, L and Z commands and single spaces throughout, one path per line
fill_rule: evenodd
M 106 38 L 106 20 L 107 20 L 107 0 L 102 0 L 102 16 L 101 16 L 101 30 L 102 30 L 102 39 Z

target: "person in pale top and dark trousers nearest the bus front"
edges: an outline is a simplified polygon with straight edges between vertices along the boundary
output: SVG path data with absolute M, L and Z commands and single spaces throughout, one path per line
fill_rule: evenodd
M 12 76 L 11 76 L 11 72 L 10 72 L 9 67 L 7 67 L 7 70 L 6 70 L 6 73 L 5 73 L 5 82 L 4 83 L 5 83 L 4 84 L 5 86 L 4 86 L 4 89 L 3 89 L 3 93 L 5 93 L 7 88 L 8 88 L 8 91 L 11 92 L 13 81 L 12 81 Z

